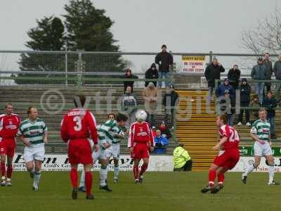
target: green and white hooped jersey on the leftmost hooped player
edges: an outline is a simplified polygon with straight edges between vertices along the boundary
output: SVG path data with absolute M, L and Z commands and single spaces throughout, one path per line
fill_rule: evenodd
M 44 134 L 48 131 L 43 120 L 38 119 L 34 122 L 30 119 L 24 120 L 20 123 L 18 135 L 23 135 L 27 141 L 31 143 L 32 147 L 44 145 Z

